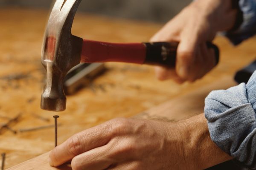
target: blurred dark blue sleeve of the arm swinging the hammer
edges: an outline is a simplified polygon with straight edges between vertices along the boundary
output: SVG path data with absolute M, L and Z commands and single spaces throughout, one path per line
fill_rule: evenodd
M 239 8 L 243 22 L 236 30 L 223 33 L 234 45 L 256 34 L 256 0 L 239 0 Z

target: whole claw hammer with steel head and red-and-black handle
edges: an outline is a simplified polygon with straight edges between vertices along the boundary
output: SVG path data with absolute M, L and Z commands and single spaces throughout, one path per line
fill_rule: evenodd
M 130 62 L 175 67 L 178 42 L 109 43 L 83 40 L 71 34 L 72 23 L 81 0 L 56 0 L 49 16 L 42 48 L 41 62 L 47 81 L 41 95 L 41 108 L 64 111 L 66 96 L 64 77 L 80 62 Z M 218 47 L 207 42 L 215 51 Z

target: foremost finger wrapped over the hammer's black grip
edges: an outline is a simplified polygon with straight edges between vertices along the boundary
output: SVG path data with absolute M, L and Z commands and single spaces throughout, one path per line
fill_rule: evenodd
M 189 79 L 198 50 L 198 36 L 185 31 L 177 48 L 176 72 L 182 79 Z

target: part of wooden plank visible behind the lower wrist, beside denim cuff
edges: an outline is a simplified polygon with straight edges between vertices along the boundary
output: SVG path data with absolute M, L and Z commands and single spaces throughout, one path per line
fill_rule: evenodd
M 218 82 L 199 88 L 182 96 L 164 102 L 135 117 L 144 119 L 162 119 L 169 122 L 177 122 L 204 113 L 204 99 L 213 90 L 227 89 L 236 85 L 230 77 L 223 77 Z

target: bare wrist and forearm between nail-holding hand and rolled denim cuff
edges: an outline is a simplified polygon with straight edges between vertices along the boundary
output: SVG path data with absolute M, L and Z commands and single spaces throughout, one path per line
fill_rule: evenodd
M 195 170 L 212 167 L 232 159 L 212 142 L 204 114 L 179 122 L 185 130 L 185 158 Z

